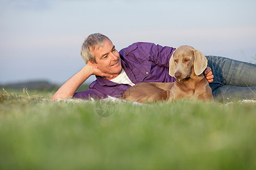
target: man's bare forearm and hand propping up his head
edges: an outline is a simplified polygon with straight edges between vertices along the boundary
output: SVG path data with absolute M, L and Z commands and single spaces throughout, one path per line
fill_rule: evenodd
M 57 99 L 67 99 L 73 97 L 77 88 L 89 78 L 90 75 L 99 75 L 99 76 L 108 76 L 112 77 L 110 74 L 102 73 L 100 70 L 96 69 L 90 63 L 73 75 L 70 79 L 67 80 L 53 95 L 52 100 Z

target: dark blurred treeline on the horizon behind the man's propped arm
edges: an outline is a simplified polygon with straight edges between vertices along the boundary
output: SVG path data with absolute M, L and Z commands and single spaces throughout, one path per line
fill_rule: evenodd
M 36 80 L 28 82 L 18 82 L 9 84 L 0 84 L 1 88 L 22 90 L 27 88 L 27 90 L 38 90 L 38 91 L 57 91 L 60 87 L 58 84 L 49 83 L 47 80 Z M 89 88 L 89 84 L 82 84 L 77 91 L 84 91 Z

